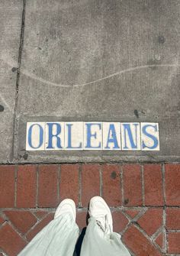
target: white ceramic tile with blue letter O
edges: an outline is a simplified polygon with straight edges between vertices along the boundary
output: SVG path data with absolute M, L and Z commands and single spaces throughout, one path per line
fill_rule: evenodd
M 26 150 L 44 151 L 45 122 L 27 122 Z

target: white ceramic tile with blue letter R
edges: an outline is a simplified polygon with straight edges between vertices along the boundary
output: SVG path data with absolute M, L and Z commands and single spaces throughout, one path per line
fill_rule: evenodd
M 64 122 L 46 122 L 46 151 L 64 149 Z

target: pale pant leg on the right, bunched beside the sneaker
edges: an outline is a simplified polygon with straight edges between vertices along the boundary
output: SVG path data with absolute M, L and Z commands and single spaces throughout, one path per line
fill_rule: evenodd
M 81 256 L 130 256 L 121 241 L 121 235 L 113 232 L 105 234 L 95 218 L 90 218 L 82 242 Z

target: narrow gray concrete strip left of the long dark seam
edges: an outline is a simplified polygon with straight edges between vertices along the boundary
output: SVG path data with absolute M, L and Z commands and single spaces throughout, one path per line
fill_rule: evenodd
M 22 2 L 0 2 L 0 163 L 13 160 L 14 105 L 21 38 Z

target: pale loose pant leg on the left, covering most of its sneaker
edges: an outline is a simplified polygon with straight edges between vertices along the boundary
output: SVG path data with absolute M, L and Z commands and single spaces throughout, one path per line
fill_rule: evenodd
M 63 214 L 43 228 L 18 256 L 72 256 L 78 237 L 72 215 Z

